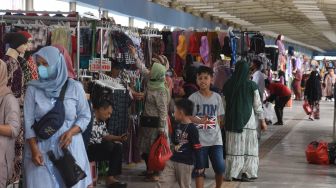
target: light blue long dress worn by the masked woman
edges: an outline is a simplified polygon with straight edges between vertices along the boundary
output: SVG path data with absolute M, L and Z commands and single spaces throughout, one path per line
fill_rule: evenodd
M 36 137 L 31 128 L 34 121 L 40 120 L 48 111 L 53 108 L 56 102 L 55 98 L 49 98 L 44 91 L 33 86 L 28 86 L 24 103 L 24 120 L 25 120 L 25 139 Z M 39 140 L 38 148 L 42 153 L 45 165 L 38 167 L 32 162 L 32 153 L 28 142 L 26 142 L 24 153 L 25 182 L 27 187 L 34 188 L 63 188 L 61 177 L 56 172 L 55 166 L 47 156 L 48 151 L 53 151 L 56 158 L 63 155 L 59 147 L 59 139 L 66 131 L 74 125 L 85 131 L 91 119 L 91 112 L 85 92 L 82 85 L 72 79 L 69 79 L 68 87 L 64 98 L 65 121 L 63 126 L 49 139 Z M 74 156 L 76 163 L 86 173 L 87 177 L 78 182 L 73 188 L 87 187 L 92 182 L 90 165 L 87 158 L 82 134 L 72 137 L 72 142 L 68 147 Z

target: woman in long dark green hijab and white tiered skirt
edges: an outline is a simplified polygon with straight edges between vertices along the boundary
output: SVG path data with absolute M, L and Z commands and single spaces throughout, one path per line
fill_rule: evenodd
M 263 117 L 258 86 L 249 80 L 249 66 L 244 61 L 224 86 L 226 101 L 226 169 L 229 181 L 252 181 L 258 178 L 258 137 L 256 117 L 261 129 L 267 125 Z

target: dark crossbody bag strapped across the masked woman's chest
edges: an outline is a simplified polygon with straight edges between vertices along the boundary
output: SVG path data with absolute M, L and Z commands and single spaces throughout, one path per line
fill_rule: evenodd
M 65 119 L 65 108 L 63 104 L 64 95 L 68 81 L 62 87 L 61 93 L 56 100 L 55 106 L 46 113 L 40 121 L 35 121 L 32 129 L 36 136 L 40 139 L 46 140 L 54 135 L 63 125 Z

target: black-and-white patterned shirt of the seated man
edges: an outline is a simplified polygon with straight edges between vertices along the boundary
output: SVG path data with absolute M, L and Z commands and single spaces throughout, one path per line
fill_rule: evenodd
M 103 142 L 103 138 L 108 134 L 109 133 L 107 131 L 106 123 L 103 121 L 98 121 L 96 118 L 94 118 L 89 145 L 101 144 Z

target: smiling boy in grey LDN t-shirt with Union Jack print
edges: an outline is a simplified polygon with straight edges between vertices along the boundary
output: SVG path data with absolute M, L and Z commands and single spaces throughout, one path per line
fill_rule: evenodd
M 198 124 L 201 148 L 201 166 L 209 168 L 210 158 L 216 173 L 216 188 L 223 183 L 225 164 L 223 158 L 223 141 L 221 126 L 224 119 L 224 107 L 219 94 L 212 92 L 210 86 L 213 80 L 213 71 L 209 67 L 199 67 L 197 72 L 197 85 L 200 90 L 192 94 L 189 99 L 195 104 L 191 121 Z M 204 170 L 198 171 L 196 184 L 204 184 Z

